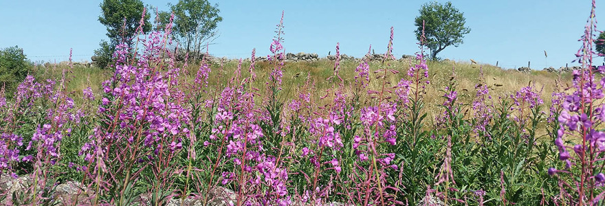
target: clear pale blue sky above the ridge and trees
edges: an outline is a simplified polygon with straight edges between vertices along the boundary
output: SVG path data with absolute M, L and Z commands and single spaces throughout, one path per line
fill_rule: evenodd
M 143 0 L 167 10 L 177 0 Z M 341 54 L 360 57 L 369 45 L 386 50 L 395 27 L 394 53 L 417 52 L 414 18 L 427 1 L 216 1 L 223 21 L 210 45 L 214 56 L 247 58 L 269 53 L 275 25 L 285 11 L 286 52 L 326 56 L 340 43 Z M 444 2 L 444 1 L 441 1 Z M 560 67 L 580 48 L 590 0 L 452 1 L 471 28 L 459 47 L 439 53 L 452 60 L 474 59 L 502 67 Z M 74 60 L 89 60 L 105 36 L 98 22 L 100 0 L 0 0 L 0 47 L 19 45 L 30 60 L 62 61 L 74 49 Z M 597 19 L 601 16 L 597 1 Z M 605 11 L 605 10 L 604 10 Z M 603 13 L 602 15 L 605 15 Z M 152 17 L 153 18 L 153 17 Z M 602 26 L 605 27 L 605 26 Z M 601 28 L 602 28 L 601 27 Z M 544 52 L 548 59 L 544 58 Z M 600 65 L 602 58 L 597 60 Z

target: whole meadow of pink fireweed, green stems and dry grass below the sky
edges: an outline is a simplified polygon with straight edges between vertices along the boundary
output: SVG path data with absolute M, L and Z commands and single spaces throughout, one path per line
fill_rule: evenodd
M 177 60 L 171 21 L 141 25 L 100 85 L 67 89 L 69 65 L 0 91 L 0 204 L 605 205 L 592 2 L 581 69 L 507 95 L 492 93 L 483 67 L 465 92 L 455 65 L 435 85 L 424 41 L 397 62 L 393 27 L 353 67 L 335 43 L 328 78 L 301 70 L 292 83 L 287 12 L 266 60 L 251 49 L 230 70 Z M 385 49 L 378 63 L 373 49 Z

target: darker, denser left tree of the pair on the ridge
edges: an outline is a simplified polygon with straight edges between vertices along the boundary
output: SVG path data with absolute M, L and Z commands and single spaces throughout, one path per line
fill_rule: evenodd
M 145 8 L 143 2 L 140 0 L 104 0 L 99 6 L 102 12 L 99 22 L 107 26 L 107 36 L 111 45 L 126 43 L 131 47 Z M 146 12 L 142 32 L 149 31 L 151 31 L 151 23 L 149 13 Z

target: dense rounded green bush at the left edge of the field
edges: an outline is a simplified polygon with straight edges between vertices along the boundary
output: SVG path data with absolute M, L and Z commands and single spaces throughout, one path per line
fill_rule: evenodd
M 14 46 L 0 50 L 0 88 L 10 98 L 25 76 L 30 72 L 30 62 L 23 49 Z

